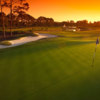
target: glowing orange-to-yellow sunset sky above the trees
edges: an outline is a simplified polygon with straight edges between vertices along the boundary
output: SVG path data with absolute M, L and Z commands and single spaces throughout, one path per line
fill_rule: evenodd
M 100 0 L 28 0 L 29 14 L 52 17 L 55 21 L 100 20 Z

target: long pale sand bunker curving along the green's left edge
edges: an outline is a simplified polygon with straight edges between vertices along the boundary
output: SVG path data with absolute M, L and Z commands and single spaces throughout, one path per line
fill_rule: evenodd
M 37 40 L 44 39 L 44 38 L 54 38 L 54 37 L 57 37 L 57 36 L 50 35 L 50 34 L 39 34 L 39 36 L 36 36 L 36 37 L 32 37 L 32 36 L 22 37 L 20 39 L 9 41 L 12 43 L 12 45 L 10 46 L 0 45 L 0 49 L 15 47 L 15 46 L 23 45 L 23 44 L 26 44 L 32 41 L 37 41 Z

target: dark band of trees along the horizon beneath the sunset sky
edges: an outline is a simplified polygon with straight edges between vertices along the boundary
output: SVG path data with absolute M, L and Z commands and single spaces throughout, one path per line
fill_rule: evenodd
M 2 17 L 3 16 L 3 17 Z M 12 16 L 12 17 L 11 17 Z M 4 22 L 3 22 L 4 21 Z M 4 12 L 0 12 L 0 27 L 4 26 L 9 28 L 20 28 L 20 27 L 34 27 L 34 26 L 77 26 L 77 27 L 100 27 L 100 21 L 88 22 L 87 20 L 80 20 L 77 22 L 63 21 L 56 22 L 53 18 L 46 18 L 40 16 L 39 18 L 34 18 L 33 16 L 27 14 L 26 12 L 20 11 L 18 14 L 12 13 L 11 15 L 6 15 Z M 12 22 L 12 23 L 11 23 Z

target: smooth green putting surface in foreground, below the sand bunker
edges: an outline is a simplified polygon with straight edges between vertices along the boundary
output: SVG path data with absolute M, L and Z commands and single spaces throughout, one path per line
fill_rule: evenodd
M 0 100 L 100 100 L 100 45 L 91 67 L 96 44 L 83 36 L 0 50 Z

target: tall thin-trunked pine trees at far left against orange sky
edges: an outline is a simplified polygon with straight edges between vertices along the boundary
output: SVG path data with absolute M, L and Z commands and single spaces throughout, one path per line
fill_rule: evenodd
M 9 14 L 6 15 L 4 9 L 9 10 Z M 29 9 L 29 4 L 26 0 L 0 0 L 0 26 L 2 26 L 3 37 L 6 38 L 5 28 L 7 24 L 10 29 L 10 36 L 13 36 L 12 27 L 15 16 L 19 16 L 25 13 Z

